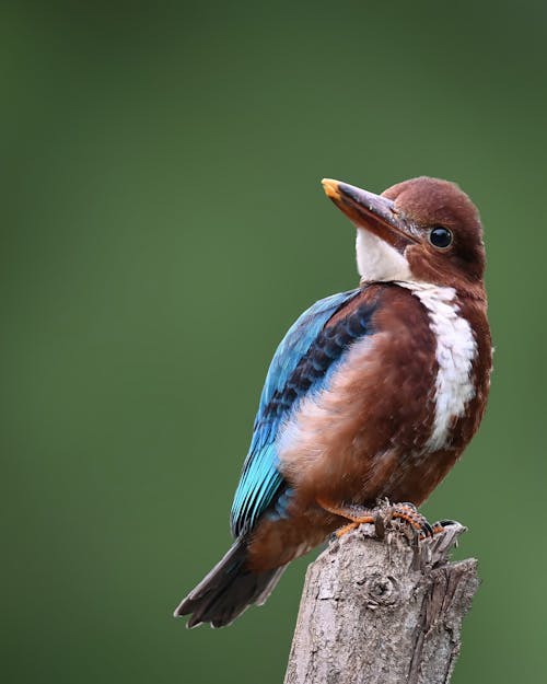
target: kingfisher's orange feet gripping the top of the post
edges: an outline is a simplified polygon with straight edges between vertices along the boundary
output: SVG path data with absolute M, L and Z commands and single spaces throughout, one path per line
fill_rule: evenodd
M 365 523 L 374 524 L 380 531 L 383 529 L 384 520 L 400 520 L 415 530 L 420 540 L 431 537 L 442 532 L 449 524 L 453 524 L 451 520 L 442 520 L 430 525 L 414 503 L 387 503 L 372 509 L 356 505 L 337 506 L 322 499 L 317 500 L 317 503 L 329 513 L 351 520 L 349 524 L 337 530 L 338 538 Z

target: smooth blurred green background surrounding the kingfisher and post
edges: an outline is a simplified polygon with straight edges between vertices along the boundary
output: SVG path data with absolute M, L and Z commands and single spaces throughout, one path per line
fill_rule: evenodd
M 424 507 L 484 579 L 454 682 L 546 679 L 544 2 L 2 3 L 2 671 L 282 680 L 309 558 L 229 629 L 172 611 L 230 543 L 287 327 L 357 282 L 322 176 L 454 179 L 496 372 Z

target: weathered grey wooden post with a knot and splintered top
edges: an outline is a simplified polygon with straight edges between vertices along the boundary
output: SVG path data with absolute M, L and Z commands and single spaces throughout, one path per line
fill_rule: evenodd
M 478 589 L 475 559 L 449 563 L 465 531 L 432 540 L 361 525 L 306 573 L 284 684 L 446 684 L 462 619 Z

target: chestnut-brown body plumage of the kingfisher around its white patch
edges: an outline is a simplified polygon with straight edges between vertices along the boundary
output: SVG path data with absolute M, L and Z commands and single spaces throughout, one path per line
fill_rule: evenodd
M 478 428 L 491 359 L 484 301 L 458 302 L 476 341 L 474 396 L 451 421 L 450 443 L 432 451 L 438 336 L 420 299 L 396 285 L 368 286 L 328 325 L 374 300 L 373 335 L 350 348 L 328 390 L 301 402 L 282 434 L 280 467 L 293 489 L 290 519 L 258 525 L 252 554 L 257 567 L 275 566 L 278 557 L 287 563 L 341 524 L 317 499 L 374 506 L 388 497 L 421 503 Z M 277 547 L 283 552 L 267 550 Z

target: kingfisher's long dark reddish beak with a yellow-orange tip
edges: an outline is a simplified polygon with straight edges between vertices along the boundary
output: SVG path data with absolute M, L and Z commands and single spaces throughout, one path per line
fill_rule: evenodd
M 327 197 L 358 228 L 377 235 L 400 253 L 409 244 L 418 242 L 393 200 L 333 178 L 323 178 L 322 183 Z

